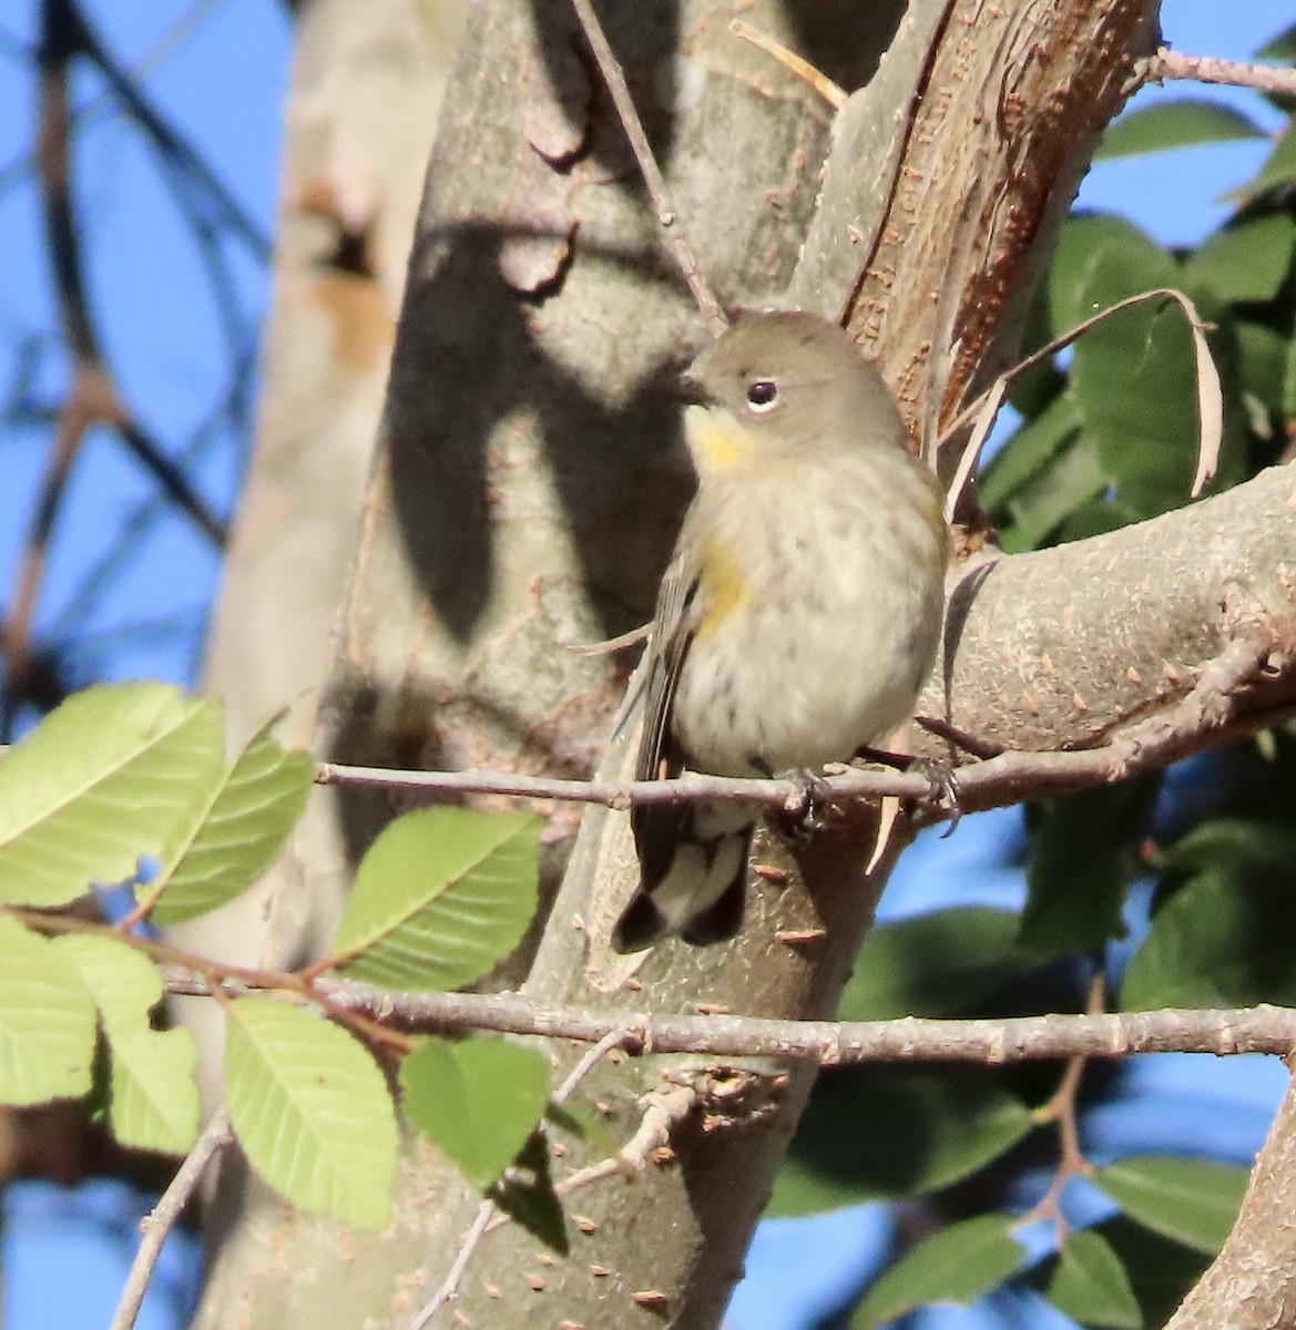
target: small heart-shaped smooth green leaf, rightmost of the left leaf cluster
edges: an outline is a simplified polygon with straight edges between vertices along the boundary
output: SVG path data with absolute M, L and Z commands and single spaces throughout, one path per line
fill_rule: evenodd
M 483 1190 L 535 1130 L 548 1093 L 546 1059 L 502 1039 L 428 1039 L 401 1064 L 402 1112 Z

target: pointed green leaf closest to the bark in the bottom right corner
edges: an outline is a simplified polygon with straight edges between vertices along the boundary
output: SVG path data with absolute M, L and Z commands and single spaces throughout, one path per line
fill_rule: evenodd
M 1098 1169 L 1092 1182 L 1131 1218 L 1214 1256 L 1237 1218 L 1247 1170 L 1206 1160 L 1146 1154 Z

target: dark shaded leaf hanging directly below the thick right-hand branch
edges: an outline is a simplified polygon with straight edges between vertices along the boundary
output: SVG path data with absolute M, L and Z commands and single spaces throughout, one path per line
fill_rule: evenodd
M 1099 785 L 1031 810 L 1027 896 L 1018 944 L 1091 951 L 1124 936 L 1120 910 L 1139 870 L 1156 778 Z

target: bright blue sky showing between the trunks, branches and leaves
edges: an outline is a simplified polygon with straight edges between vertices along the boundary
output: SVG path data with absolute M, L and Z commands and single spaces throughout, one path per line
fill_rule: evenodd
M 136 68 L 156 59 L 144 86 L 220 177 L 246 215 L 249 229 L 271 237 L 281 153 L 281 116 L 291 56 L 291 31 L 278 0 L 94 0 L 86 11 L 117 60 Z M 35 85 L 27 49 L 35 37 L 35 7 L 0 19 L 0 234 L 9 262 L 0 283 L 0 400 L 16 382 L 20 348 L 37 347 L 32 395 L 56 403 L 68 366 L 57 348 L 53 301 L 32 184 Z M 1296 0 L 1166 0 L 1163 27 L 1179 51 L 1247 59 L 1257 45 L 1296 21 Z M 176 25 L 180 24 L 177 28 Z M 174 40 L 157 51 L 173 33 Z M 176 196 L 134 130 L 93 110 L 101 85 L 81 76 L 79 105 L 92 108 L 77 137 L 76 186 L 84 207 L 86 270 L 108 358 L 128 406 L 154 435 L 188 440 L 198 452 L 197 483 L 222 516 L 234 505 L 242 466 L 234 431 L 217 422 L 204 438 L 226 388 L 226 344 L 254 329 L 269 298 L 269 269 L 253 241 L 220 249 L 233 314 L 222 318 L 210 297 L 202 258 L 177 211 Z M 1279 117 L 1261 98 L 1232 89 L 1171 85 L 1158 97 L 1211 96 L 1247 109 L 1273 126 Z M 1265 144 L 1231 144 L 1103 164 L 1086 180 L 1079 203 L 1132 217 L 1166 243 L 1192 243 L 1227 215 L 1220 196 L 1259 166 Z M 160 298 L 161 297 L 161 298 Z M 15 561 L 32 511 L 48 444 L 48 426 L 0 419 L 0 596 L 13 585 Z M 77 645 L 80 682 L 92 677 L 152 676 L 192 680 L 201 650 L 218 560 L 192 525 L 154 513 L 146 537 L 128 545 L 109 567 L 101 591 L 85 587 L 88 565 L 118 548 L 130 523 L 152 512 L 152 481 L 105 435 L 94 435 L 79 459 L 52 551 L 39 606 L 41 630 Z M 966 819 L 949 842 L 925 842 L 893 882 L 884 914 L 931 908 L 949 899 L 1013 902 L 1021 883 L 1006 859 L 1015 815 Z M 1098 1150 L 1142 1148 L 1148 1124 L 1195 1115 L 1229 1157 L 1243 1161 L 1259 1145 L 1285 1077 L 1276 1063 L 1208 1059 L 1143 1060 L 1135 1080 L 1140 1099 L 1123 1099 L 1091 1124 Z M 1202 1097 L 1204 1096 L 1204 1097 Z M 1192 1105 L 1188 1109 L 1188 1105 Z M 1162 1137 L 1156 1137 L 1162 1138 Z M 81 1193 L 35 1185 L 11 1189 L 3 1248 L 4 1321 L 11 1330 L 49 1325 L 106 1323 L 116 1301 L 128 1244 L 122 1233 L 140 1201 L 117 1184 Z M 797 1327 L 816 1305 L 830 1303 L 858 1279 L 885 1244 L 888 1218 L 868 1208 L 798 1224 L 762 1228 L 728 1323 L 733 1330 Z M 63 1271 L 77 1270 L 76 1279 Z M 148 1322 L 174 1321 L 192 1266 L 184 1253 L 153 1295 Z M 985 1313 L 933 1313 L 925 1326 L 986 1325 Z M 1055 1323 L 1038 1306 L 1031 1326 Z

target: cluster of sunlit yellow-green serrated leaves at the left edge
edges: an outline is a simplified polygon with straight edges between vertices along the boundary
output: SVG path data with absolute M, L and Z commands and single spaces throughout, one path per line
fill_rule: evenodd
M 76 694 L 0 761 L 0 1104 L 98 1088 L 122 1144 L 190 1149 L 197 1051 L 188 1029 L 162 1028 L 157 962 L 172 954 L 144 934 L 247 890 L 313 779 L 311 761 L 279 747 L 271 725 L 226 761 L 221 705 L 161 684 Z M 403 990 L 480 979 L 535 912 L 538 831 L 520 813 L 398 818 L 362 861 L 314 971 Z M 122 896 L 129 907 L 110 926 Z M 236 1138 L 302 1209 L 386 1224 L 398 1112 L 482 1189 L 544 1115 L 550 1071 L 535 1049 L 395 1036 L 322 1009 L 309 975 L 281 976 L 274 996 L 230 999 L 222 968 L 196 963 L 225 1012 Z

